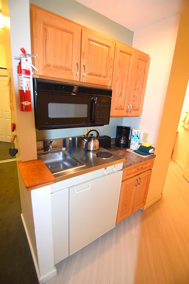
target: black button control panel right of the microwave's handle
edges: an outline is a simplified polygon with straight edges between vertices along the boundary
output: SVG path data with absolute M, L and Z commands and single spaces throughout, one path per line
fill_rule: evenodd
M 104 122 L 109 124 L 111 98 L 97 98 L 95 124 Z

